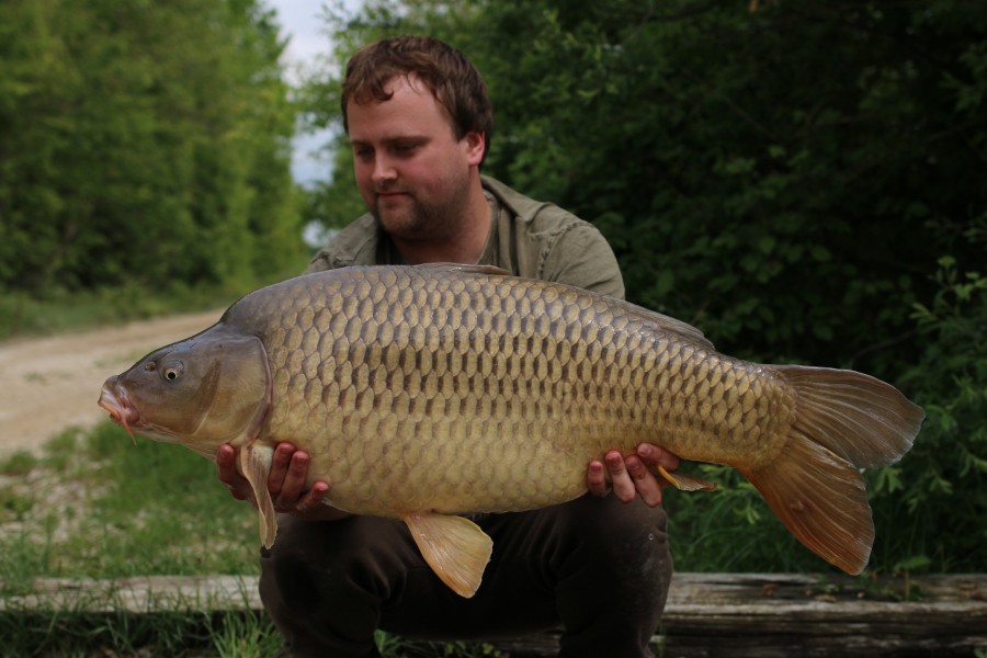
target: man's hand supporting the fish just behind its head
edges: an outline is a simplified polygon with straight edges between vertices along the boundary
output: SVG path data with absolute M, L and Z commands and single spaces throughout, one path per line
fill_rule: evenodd
M 274 510 L 306 519 L 330 520 L 348 515 L 321 504 L 329 494 L 329 483 L 317 481 L 311 489 L 306 490 L 308 463 L 308 453 L 291 443 L 279 443 L 274 449 L 271 473 L 268 475 L 268 490 L 271 492 Z M 234 498 L 249 500 L 250 504 L 257 507 L 250 483 L 237 472 L 237 451 L 229 443 L 224 443 L 216 451 L 216 469 Z

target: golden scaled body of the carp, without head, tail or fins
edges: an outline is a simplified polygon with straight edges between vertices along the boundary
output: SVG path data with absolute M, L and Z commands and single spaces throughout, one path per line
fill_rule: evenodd
M 768 366 L 620 300 L 537 281 L 366 270 L 251 306 L 273 373 L 265 441 L 311 454 L 358 513 L 509 511 L 585 492 L 587 464 L 640 442 L 733 466 L 792 422 Z M 261 319 L 263 318 L 263 320 Z

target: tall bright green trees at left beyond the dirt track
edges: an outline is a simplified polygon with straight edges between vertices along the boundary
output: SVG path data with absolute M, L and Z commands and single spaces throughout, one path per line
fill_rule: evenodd
M 303 250 L 256 0 L 0 4 L 0 291 L 228 284 Z

